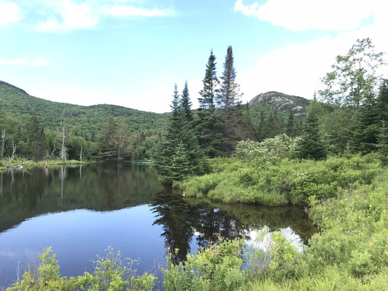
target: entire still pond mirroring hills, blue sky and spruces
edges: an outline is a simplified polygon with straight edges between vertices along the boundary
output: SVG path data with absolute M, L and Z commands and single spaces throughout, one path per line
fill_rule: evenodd
M 303 209 L 226 205 L 183 198 L 157 181 L 145 164 L 90 164 L 36 167 L 0 173 L 0 286 L 22 273 L 27 258 L 52 246 L 60 273 L 81 275 L 111 246 L 123 257 L 141 259 L 139 273 L 177 259 L 218 236 L 246 236 L 267 226 L 295 244 L 316 232 Z M 1 273 L 2 272 L 2 273 Z

